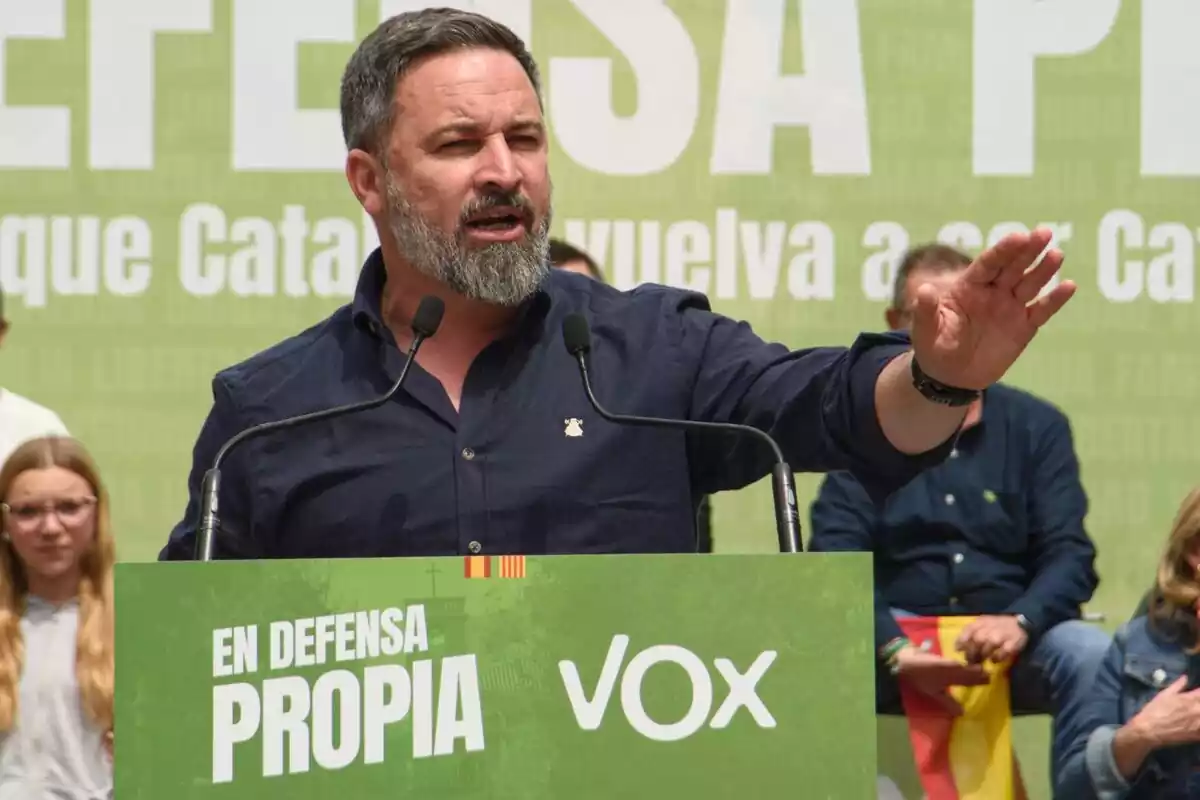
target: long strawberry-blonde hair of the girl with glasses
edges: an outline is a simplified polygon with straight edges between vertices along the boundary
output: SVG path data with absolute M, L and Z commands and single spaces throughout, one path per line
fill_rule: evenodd
M 108 493 L 91 456 L 68 437 L 44 437 L 20 445 L 0 469 L 0 500 L 17 476 L 31 469 L 60 467 L 88 481 L 96 497 L 96 535 L 83 554 L 79 582 L 79 632 L 76 679 L 86 715 L 102 730 L 113 727 L 113 563 L 116 547 L 109 523 Z M 20 618 L 29 583 L 8 537 L 0 539 L 0 732 L 17 722 L 17 698 L 25 646 Z

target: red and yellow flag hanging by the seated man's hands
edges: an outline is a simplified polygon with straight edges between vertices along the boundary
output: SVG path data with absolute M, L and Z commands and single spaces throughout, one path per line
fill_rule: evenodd
M 954 648 L 973 616 L 900 618 L 913 644 L 962 658 Z M 900 681 L 908 736 L 928 800 L 1025 800 L 1013 753 L 1008 664 L 988 662 L 991 681 L 952 686 L 962 716 L 949 717 L 926 697 Z

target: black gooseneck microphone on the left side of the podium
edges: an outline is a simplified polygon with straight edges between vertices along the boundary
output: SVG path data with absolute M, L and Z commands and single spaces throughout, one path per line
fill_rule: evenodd
M 212 560 L 212 539 L 216 536 L 216 531 L 220 525 L 217 503 L 221 489 L 221 462 L 224 461 L 226 456 L 228 456 L 234 447 L 247 439 L 253 439 L 254 437 L 260 437 L 265 433 L 274 433 L 275 431 L 283 431 L 284 428 L 292 428 L 298 425 L 304 425 L 305 422 L 328 420 L 331 416 L 365 411 L 367 409 L 383 405 L 390 401 L 397 391 L 400 391 L 401 385 L 404 383 L 404 378 L 408 375 L 408 368 L 413 366 L 413 361 L 416 359 L 416 349 L 421 347 L 421 342 L 437 333 L 438 325 L 442 324 L 442 313 L 444 311 L 445 305 L 439 297 L 434 297 L 433 295 L 421 297 L 421 302 L 416 307 L 416 313 L 413 314 L 413 344 L 408 348 L 408 357 L 404 360 L 404 366 L 400 371 L 400 377 L 396 378 L 396 383 L 394 383 L 391 389 L 384 392 L 380 397 L 359 403 L 349 403 L 347 405 L 336 405 L 319 411 L 310 411 L 308 414 L 289 416 L 282 420 L 262 422 L 241 431 L 221 446 L 221 450 L 217 451 L 216 458 L 212 459 L 212 468 L 204 474 L 204 481 L 200 483 L 200 524 L 196 531 L 194 557 L 197 561 Z

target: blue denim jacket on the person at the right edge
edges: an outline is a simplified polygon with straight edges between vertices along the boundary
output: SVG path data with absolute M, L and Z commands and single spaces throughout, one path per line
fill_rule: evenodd
M 1187 674 L 1188 642 L 1148 616 L 1127 622 L 1099 664 L 1087 706 L 1073 728 L 1055 796 L 1070 800 L 1168 800 L 1200 796 L 1200 745 L 1158 750 L 1132 781 L 1117 771 L 1112 738 L 1159 691 Z

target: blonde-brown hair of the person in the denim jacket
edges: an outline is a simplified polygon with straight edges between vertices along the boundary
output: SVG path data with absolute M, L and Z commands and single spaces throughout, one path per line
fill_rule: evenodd
M 1158 579 L 1150 600 L 1150 619 L 1154 626 L 1182 640 L 1189 652 L 1200 651 L 1200 627 L 1196 601 L 1200 601 L 1200 573 L 1188 555 L 1200 542 L 1200 488 L 1193 489 L 1175 516 L 1166 548 L 1158 561 Z

